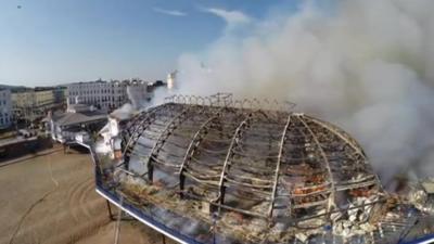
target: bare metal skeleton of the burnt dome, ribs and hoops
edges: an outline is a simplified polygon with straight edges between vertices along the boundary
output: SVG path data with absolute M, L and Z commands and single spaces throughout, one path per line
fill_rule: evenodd
M 144 177 L 148 175 L 146 180 L 149 182 L 153 182 L 153 168 L 157 167 L 161 168 L 163 171 L 170 172 L 173 175 L 179 175 L 179 193 L 181 197 L 197 197 L 197 195 L 193 195 L 189 190 L 186 190 L 186 180 L 192 180 L 193 182 L 197 182 L 199 184 L 204 185 L 205 188 L 209 189 L 217 189 L 217 194 L 215 198 L 206 198 L 206 196 L 201 197 L 201 201 L 206 201 L 210 205 L 214 205 L 218 208 L 218 213 L 220 209 L 229 209 L 231 211 L 239 211 L 241 214 L 256 216 L 266 218 L 269 220 L 273 219 L 273 210 L 276 207 L 276 202 L 278 198 L 286 197 L 289 200 L 290 213 L 296 208 L 303 208 L 308 206 L 315 205 L 323 205 L 327 209 L 327 216 L 330 218 L 330 214 L 333 211 L 335 206 L 335 193 L 339 191 L 346 191 L 352 189 L 359 189 L 359 188 L 367 188 L 367 187 L 374 187 L 379 191 L 381 190 L 381 184 L 375 175 L 372 174 L 369 165 L 367 164 L 367 158 L 365 153 L 360 149 L 360 146 L 344 131 L 334 126 L 323 123 L 319 119 L 312 118 L 310 116 L 304 114 L 297 114 L 293 112 L 282 112 L 282 111 L 272 111 L 272 110 L 261 110 L 261 108 L 254 108 L 252 105 L 251 107 L 244 107 L 243 102 L 230 102 L 231 98 L 228 97 L 215 97 L 210 99 L 199 99 L 195 98 L 196 102 L 202 101 L 202 104 L 187 104 L 186 100 L 189 100 L 188 97 L 182 97 L 182 103 L 179 101 L 170 101 L 165 103 L 161 106 L 153 107 L 148 112 L 143 112 L 137 115 L 130 125 L 130 127 L 125 130 L 124 134 L 124 163 L 119 167 L 125 166 L 124 170 L 130 172 L 130 175 L 135 175 L 137 177 Z M 191 100 L 191 98 L 190 98 Z M 206 104 L 208 102 L 208 104 Z M 186 103 L 186 104 L 183 104 Z M 206 104 L 206 105 L 205 105 Z M 241 106 L 240 106 L 241 104 Z M 232 105 L 232 106 L 231 106 Z M 235 107 L 237 105 L 238 107 Z M 152 130 L 150 127 L 157 124 L 162 117 L 168 117 L 163 125 L 165 126 L 163 130 Z M 225 116 L 229 116 L 228 118 L 234 117 L 234 120 L 225 119 Z M 195 121 L 194 119 L 197 119 Z M 222 120 L 222 121 L 221 121 Z M 265 120 L 265 121 L 264 121 Z M 267 124 L 266 126 L 268 129 L 264 129 L 263 131 L 257 129 L 252 129 L 252 126 L 260 124 Z M 161 158 L 159 156 L 165 154 L 165 145 L 171 142 L 170 137 L 177 133 L 182 126 L 187 126 L 191 123 L 190 129 L 196 128 L 196 130 L 190 130 L 184 139 L 189 139 L 190 142 L 184 144 L 182 149 L 184 150 L 183 155 L 178 155 L 181 159 L 174 164 L 168 162 L 169 158 Z M 213 128 L 219 126 L 219 128 Z M 277 129 L 279 128 L 279 130 Z M 281 129 L 281 130 L 280 130 Z M 153 131 L 156 133 L 156 139 L 148 137 L 146 131 Z M 158 134 L 159 131 L 159 134 Z M 199 172 L 197 169 L 193 169 L 194 167 L 199 167 L 201 163 L 194 156 L 196 154 L 202 154 L 205 151 L 203 144 L 214 143 L 217 145 L 217 141 L 212 142 L 210 139 L 208 140 L 207 137 L 213 133 L 213 131 L 219 131 L 221 133 L 232 134 L 229 142 L 229 146 L 227 146 L 227 153 L 225 155 L 222 165 L 216 164 L 216 167 L 221 167 L 220 175 L 218 177 L 214 175 L 209 175 L 214 172 L 214 168 L 209 168 L 209 172 L 206 170 L 201 170 Z M 250 134 L 250 132 L 252 132 Z M 266 131 L 266 132 L 264 132 Z M 280 131 L 279 134 L 273 137 L 273 132 L 271 131 Z M 297 132 L 295 132 L 297 131 Z M 256 132 L 256 133 L 255 133 Z M 275 132 L 276 133 L 276 132 Z M 182 134 L 182 133 L 181 133 Z M 297 138 L 297 134 L 302 139 Z M 177 136 L 178 137 L 178 136 Z M 252 137 L 250 139 L 248 137 Z M 324 139 L 324 137 L 327 137 Z M 130 158 L 131 156 L 137 153 L 137 145 L 140 138 L 149 139 L 150 141 L 154 142 L 150 152 L 145 155 L 143 164 L 146 165 L 148 171 L 144 174 L 136 174 L 131 171 L 129 168 Z M 256 138 L 256 140 L 254 140 Z M 258 140 L 257 138 L 260 138 Z M 292 141 L 289 139 L 291 138 Z M 221 140 L 221 138 L 220 138 Z M 256 153 L 252 153 L 252 150 L 248 151 L 246 154 L 241 154 L 240 149 L 244 143 L 245 140 L 251 142 L 254 150 L 256 149 Z M 269 143 L 265 142 L 268 140 Z M 298 140 L 298 141 L 297 141 Z M 276 141 L 276 142 L 275 142 Z M 303 144 L 302 142 L 305 141 Z M 333 142 L 334 141 L 334 142 Z M 337 141 L 337 142 L 336 142 Z M 206 142 L 206 143 L 205 143 Z M 275 142 L 278 145 L 277 149 L 277 156 L 264 156 L 260 155 L 261 151 L 259 150 L 260 146 L 269 145 L 271 149 L 271 142 Z M 298 142 L 298 143 L 295 143 Z M 324 149 L 324 145 L 331 145 L 332 143 L 339 144 L 342 149 L 336 150 L 333 144 L 332 151 Z M 219 142 L 220 143 L 220 142 Z M 263 144 L 263 145 L 260 145 Z M 308 145 L 307 145 L 308 144 Z M 306 146 L 307 145 L 307 146 Z M 181 144 L 177 145 L 178 147 Z M 286 146 L 286 147 L 285 147 Z M 288 149 L 288 146 L 290 149 Z M 297 150 L 296 146 L 302 147 L 302 150 Z M 217 146 L 215 146 L 217 147 Z M 213 151 L 212 149 L 207 149 L 208 151 Z M 296 158 L 296 155 L 291 155 L 289 151 L 295 151 L 296 153 L 302 153 L 302 158 Z M 291 166 L 299 166 L 301 164 L 297 160 L 302 160 L 303 164 L 306 164 L 306 156 L 304 155 L 304 150 L 311 150 L 310 156 L 312 156 L 312 160 L 315 162 L 315 167 L 311 168 L 310 176 L 315 176 L 315 170 L 321 172 L 321 169 L 326 169 L 327 178 L 318 180 L 319 183 L 312 183 L 311 185 L 303 185 L 298 189 L 295 189 L 294 184 L 292 184 L 291 190 L 288 191 L 286 195 L 281 194 L 279 190 L 282 190 L 281 177 L 285 175 L 282 170 L 286 168 L 286 170 L 295 170 L 291 169 Z M 329 152 L 330 151 L 330 152 Z M 350 152 L 348 152 L 350 151 Z M 270 151 L 271 152 L 271 151 Z M 341 177 L 340 174 L 333 172 L 333 164 L 331 163 L 332 156 L 336 156 L 340 158 L 339 164 L 345 165 L 345 160 L 342 160 L 341 157 L 344 157 L 346 160 L 349 160 L 352 165 L 353 171 L 356 172 L 357 170 L 362 171 L 363 176 L 359 179 L 347 179 L 345 177 L 343 180 L 335 179 L 335 177 Z M 221 155 L 221 154 L 218 154 Z M 256 171 L 256 177 L 251 177 L 251 180 L 240 180 L 241 178 L 246 179 L 246 176 L 233 176 L 231 172 L 232 167 L 235 167 L 239 160 L 234 160 L 234 158 L 241 159 L 243 162 L 242 166 L 245 166 L 247 159 L 251 162 L 252 169 L 250 170 L 251 175 L 252 171 Z M 261 157 L 263 159 L 257 159 Z M 208 158 L 210 158 L 208 156 Z M 218 157 L 216 157 L 218 159 Z M 216 159 L 210 158 L 210 159 Z M 254 158 L 254 159 L 252 159 Z M 269 179 L 263 179 L 264 176 L 260 174 L 260 167 L 269 168 L 269 166 L 261 166 L 263 164 L 270 164 L 271 159 L 273 160 L 273 170 L 270 171 L 271 177 Z M 333 158 L 332 158 L 333 159 Z M 335 159 L 333 159 L 335 160 Z M 217 160 L 219 162 L 219 160 Z M 252 162 L 254 164 L 252 164 Z M 256 163 L 255 163 L 256 162 Z M 247 164 L 248 165 L 248 164 Z M 260 165 L 260 167 L 259 167 Z M 309 165 L 309 164 L 307 164 Z M 200 167 L 204 167 L 201 165 Z M 334 166 L 336 167 L 336 166 Z M 256 170 L 257 169 L 257 170 Z M 235 170 L 240 170 L 237 168 Z M 303 170 L 303 169 L 302 169 Z M 342 169 L 344 170 L 344 169 Z M 296 171 L 296 170 L 295 170 Z M 293 172 L 292 172 L 293 174 Z M 309 174 L 309 171 L 303 172 Z M 303 175 L 302 174 L 302 175 Z M 295 174 L 296 175 L 296 174 Z M 320 175 L 320 174 L 319 174 Z M 336 175 L 336 176 L 335 176 Z M 348 175 L 348 172 L 347 172 Z M 298 175 L 297 177 L 299 177 Z M 323 182 L 321 182 L 323 181 Z M 258 183 L 260 182 L 260 183 Z M 290 182 L 293 183 L 293 182 Z M 233 187 L 235 185 L 235 187 Z M 264 198 L 268 202 L 268 207 L 266 213 L 256 213 L 251 209 L 241 209 L 234 206 L 229 206 L 225 202 L 225 195 L 227 194 L 228 188 L 234 189 L 243 189 L 243 191 L 257 194 L 258 197 Z M 245 189 L 244 189 L 245 188 Z M 294 191 L 298 190 L 299 192 L 295 193 Z M 233 192 L 232 192 L 233 193 Z M 231 194 L 232 194 L 231 193 Z M 308 197 L 308 196 L 319 196 L 326 194 L 326 201 L 312 201 L 308 203 L 293 203 L 293 198 L 296 197 Z M 290 214 L 291 215 L 291 214 Z

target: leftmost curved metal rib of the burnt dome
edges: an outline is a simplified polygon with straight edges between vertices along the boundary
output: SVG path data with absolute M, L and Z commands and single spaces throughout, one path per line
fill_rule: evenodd
M 152 110 L 151 112 L 143 113 L 144 119 L 138 120 L 139 125 L 136 125 L 135 130 L 132 131 L 127 144 L 125 145 L 124 149 L 124 164 L 129 162 L 130 154 L 132 152 L 132 149 L 135 147 L 137 141 L 139 138 L 142 136 L 144 130 L 150 126 L 154 119 L 155 119 L 155 114 L 157 112 L 161 112 L 163 110 L 166 110 L 166 106 L 159 106 L 158 108 Z

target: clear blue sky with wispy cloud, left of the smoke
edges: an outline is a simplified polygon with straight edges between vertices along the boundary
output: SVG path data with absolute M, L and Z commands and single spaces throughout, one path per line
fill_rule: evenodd
M 293 12 L 298 0 L 0 0 L 0 84 L 164 79 L 231 22 Z

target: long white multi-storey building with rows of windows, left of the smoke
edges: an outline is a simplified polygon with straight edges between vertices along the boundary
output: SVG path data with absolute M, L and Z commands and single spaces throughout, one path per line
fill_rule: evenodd
M 102 111 L 113 111 L 128 102 L 127 88 L 148 93 L 148 82 L 133 79 L 124 81 L 89 81 L 67 86 L 67 102 L 94 105 Z

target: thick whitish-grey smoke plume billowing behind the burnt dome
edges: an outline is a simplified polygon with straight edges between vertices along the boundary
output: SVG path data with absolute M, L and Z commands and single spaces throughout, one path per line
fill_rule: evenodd
M 383 181 L 434 176 L 432 10 L 431 0 L 353 0 L 273 13 L 183 54 L 178 93 L 292 101 L 353 134 Z

